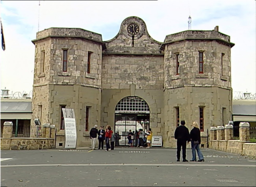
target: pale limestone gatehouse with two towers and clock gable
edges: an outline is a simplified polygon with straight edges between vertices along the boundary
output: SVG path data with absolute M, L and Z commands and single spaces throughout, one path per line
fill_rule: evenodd
M 189 130 L 198 122 L 204 144 L 210 127 L 232 119 L 234 44 L 218 26 L 158 42 L 141 18 L 131 16 L 108 41 L 84 29 L 52 27 L 32 42 L 32 121 L 56 125 L 56 147 L 65 143 L 62 108 L 75 111 L 76 147 L 90 146 L 96 124 L 118 131 L 120 145 L 128 145 L 130 129 L 151 128 L 162 136 L 163 147 L 176 147 L 174 130 L 181 120 Z

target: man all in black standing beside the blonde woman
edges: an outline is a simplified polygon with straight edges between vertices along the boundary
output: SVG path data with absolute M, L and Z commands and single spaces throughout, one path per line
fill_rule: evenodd
M 182 162 L 188 162 L 186 160 L 186 148 L 187 143 L 190 141 L 189 131 L 187 127 L 185 127 L 185 121 L 182 120 L 180 122 L 180 126 L 176 128 L 174 132 L 174 138 L 177 140 L 177 162 L 180 162 L 180 150 L 182 147 Z

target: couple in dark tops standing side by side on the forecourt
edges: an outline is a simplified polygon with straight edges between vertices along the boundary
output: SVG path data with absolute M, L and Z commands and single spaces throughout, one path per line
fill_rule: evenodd
M 191 142 L 192 149 L 192 160 L 191 162 L 197 161 L 196 150 L 198 154 L 198 162 L 204 162 L 204 156 L 200 150 L 201 134 L 197 122 L 193 122 L 191 126 L 193 129 L 190 131 L 185 127 L 186 122 L 182 120 L 180 126 L 176 128 L 174 132 L 174 138 L 177 140 L 177 162 L 180 162 L 180 151 L 182 147 L 182 162 L 188 162 L 186 159 L 186 148 L 187 144 Z

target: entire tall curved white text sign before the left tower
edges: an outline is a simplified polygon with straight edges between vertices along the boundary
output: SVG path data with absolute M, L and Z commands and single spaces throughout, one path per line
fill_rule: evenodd
M 62 109 L 65 129 L 65 148 L 76 148 L 76 118 L 74 109 Z

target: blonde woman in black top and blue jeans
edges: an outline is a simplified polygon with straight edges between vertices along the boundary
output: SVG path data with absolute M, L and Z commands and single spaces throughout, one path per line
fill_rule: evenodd
M 190 138 L 191 138 L 191 148 L 192 148 L 193 158 L 190 161 L 197 161 L 197 156 L 196 156 L 196 150 L 197 150 L 197 154 L 199 157 L 198 162 L 204 162 L 204 156 L 200 150 L 201 134 L 200 134 L 200 129 L 198 127 L 198 123 L 193 122 L 192 126 L 194 128 L 190 131 Z

